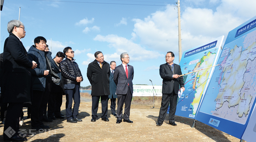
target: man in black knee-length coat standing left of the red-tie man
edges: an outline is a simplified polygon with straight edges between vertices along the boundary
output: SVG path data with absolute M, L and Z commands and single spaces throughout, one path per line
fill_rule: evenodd
M 95 122 L 98 118 L 98 104 L 101 101 L 102 115 L 101 119 L 109 121 L 107 118 L 108 113 L 108 95 L 109 92 L 109 63 L 104 61 L 102 52 L 97 51 L 94 54 L 95 60 L 89 63 L 87 68 L 87 77 L 91 83 L 91 95 L 92 95 L 92 119 L 91 122 Z

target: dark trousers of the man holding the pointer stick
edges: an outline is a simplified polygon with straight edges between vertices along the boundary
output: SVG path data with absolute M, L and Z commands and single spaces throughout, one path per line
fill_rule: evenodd
M 175 122 L 174 115 L 176 112 L 176 106 L 177 106 L 177 99 L 178 99 L 178 94 L 170 93 L 170 94 L 163 94 L 162 95 L 162 102 L 161 102 L 161 108 L 159 111 L 159 116 L 158 116 L 158 123 L 163 123 L 165 120 L 168 106 L 170 103 L 170 111 L 169 111 L 169 122 Z

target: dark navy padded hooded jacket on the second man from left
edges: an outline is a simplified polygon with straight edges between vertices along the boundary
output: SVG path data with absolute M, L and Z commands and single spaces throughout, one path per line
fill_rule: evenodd
M 30 61 L 37 62 L 37 67 L 35 69 L 31 69 L 32 73 L 32 84 L 33 90 L 45 91 L 46 77 L 50 77 L 50 75 L 44 75 L 44 71 L 46 69 L 46 58 L 52 60 L 52 52 L 44 52 L 35 48 L 35 45 L 32 45 L 28 50 L 28 58 Z

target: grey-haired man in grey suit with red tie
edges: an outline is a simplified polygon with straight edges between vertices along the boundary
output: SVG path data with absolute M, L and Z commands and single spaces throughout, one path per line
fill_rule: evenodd
M 117 124 L 122 122 L 133 123 L 130 118 L 130 108 L 133 94 L 132 79 L 134 79 L 134 67 L 128 65 L 130 58 L 128 53 L 124 52 L 120 55 L 122 64 L 115 68 L 114 81 L 117 85 Z M 122 117 L 122 106 L 124 107 L 124 117 Z

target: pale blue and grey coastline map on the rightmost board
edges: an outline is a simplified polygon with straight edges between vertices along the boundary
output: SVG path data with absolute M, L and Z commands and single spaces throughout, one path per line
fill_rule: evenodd
M 256 31 L 225 45 L 200 112 L 245 124 L 256 91 Z

